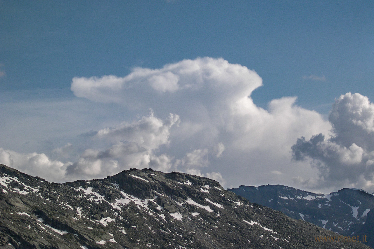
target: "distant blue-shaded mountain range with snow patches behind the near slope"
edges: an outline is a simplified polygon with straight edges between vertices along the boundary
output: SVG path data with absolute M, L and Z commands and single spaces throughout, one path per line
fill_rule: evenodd
M 343 188 L 330 194 L 315 194 L 283 185 L 242 185 L 229 190 L 250 202 L 344 236 L 367 235 L 364 243 L 374 248 L 374 196 L 364 190 Z

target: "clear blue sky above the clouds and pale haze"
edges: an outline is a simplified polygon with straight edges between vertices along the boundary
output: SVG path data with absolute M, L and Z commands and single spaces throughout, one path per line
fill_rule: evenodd
M 210 56 L 254 69 L 264 80 L 258 102 L 298 96 L 318 107 L 374 92 L 373 9 L 372 1 L 2 1 L 0 89 L 68 88 L 74 76 Z M 326 81 L 303 79 L 311 74 Z

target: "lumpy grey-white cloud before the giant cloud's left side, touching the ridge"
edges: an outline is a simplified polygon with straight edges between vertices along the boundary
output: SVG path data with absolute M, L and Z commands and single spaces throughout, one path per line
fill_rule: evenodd
M 96 138 L 108 140 L 112 145 L 103 151 L 87 149 L 77 162 L 67 167 L 66 176 L 98 178 L 125 169 L 146 167 L 169 171 L 172 157 L 167 154 L 156 156 L 154 150 L 169 144 L 170 129 L 179 121 L 178 115 L 169 114 L 166 120 L 161 120 L 151 111 L 139 120 L 101 129 Z

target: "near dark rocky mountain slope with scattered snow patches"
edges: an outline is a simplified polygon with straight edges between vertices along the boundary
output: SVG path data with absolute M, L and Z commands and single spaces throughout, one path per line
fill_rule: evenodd
M 0 248 L 368 248 L 321 236 L 337 234 L 199 176 L 130 169 L 55 184 L 0 165 Z

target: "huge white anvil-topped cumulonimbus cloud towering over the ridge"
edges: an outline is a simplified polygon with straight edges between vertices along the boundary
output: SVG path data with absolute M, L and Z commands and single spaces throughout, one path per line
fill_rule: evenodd
M 117 103 L 139 113 L 151 108 L 154 116 L 178 115 L 179 126 L 167 128 L 168 141 L 155 137 L 159 142 L 149 145 L 149 158 L 163 156 L 163 160 L 142 157 L 139 165 L 158 165 L 160 169 L 211 176 L 221 182 L 225 178 L 232 186 L 237 182 L 257 184 L 261 178 L 265 182 L 286 181 L 300 165 L 310 167 L 291 161 L 294 141 L 331 129 L 320 114 L 295 105 L 295 97 L 275 99 L 268 110 L 257 107 L 250 96 L 261 85 L 261 77 L 242 65 L 221 58 L 197 58 L 159 69 L 134 68 L 125 77 L 74 77 L 71 90 L 78 97 Z M 96 136 L 104 135 L 112 139 L 112 146 L 128 146 L 130 139 L 139 148 L 149 149 L 139 144 L 142 135 L 127 125 L 102 129 Z M 102 152 L 97 153 L 90 158 L 96 159 Z M 122 155 L 126 154 L 131 153 Z M 122 165 L 114 156 L 106 158 L 116 161 L 109 167 Z M 270 173 L 274 170 L 280 173 Z

